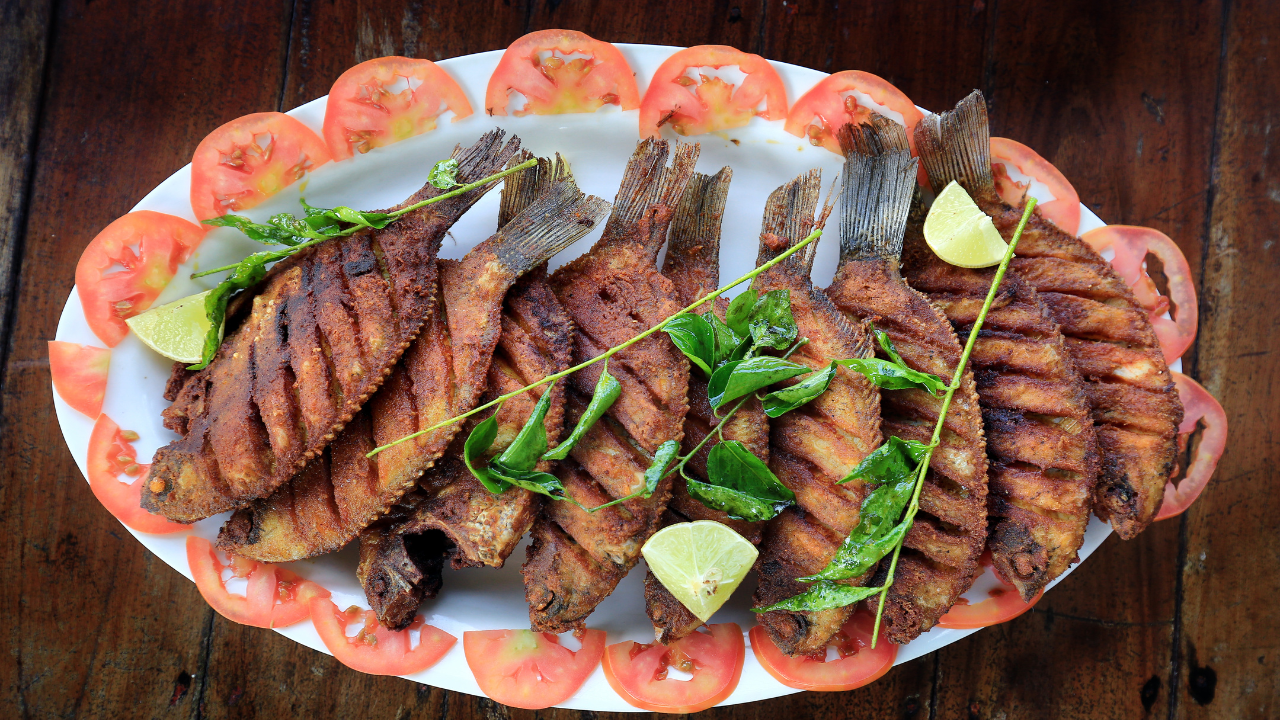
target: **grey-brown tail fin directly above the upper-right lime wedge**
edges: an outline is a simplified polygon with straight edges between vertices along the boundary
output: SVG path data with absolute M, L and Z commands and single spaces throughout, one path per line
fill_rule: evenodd
M 942 192 L 951 181 L 973 196 L 995 192 L 991 128 L 987 126 L 987 102 L 982 91 L 970 92 L 955 110 L 925 115 L 915 126 L 915 147 L 933 192 Z

